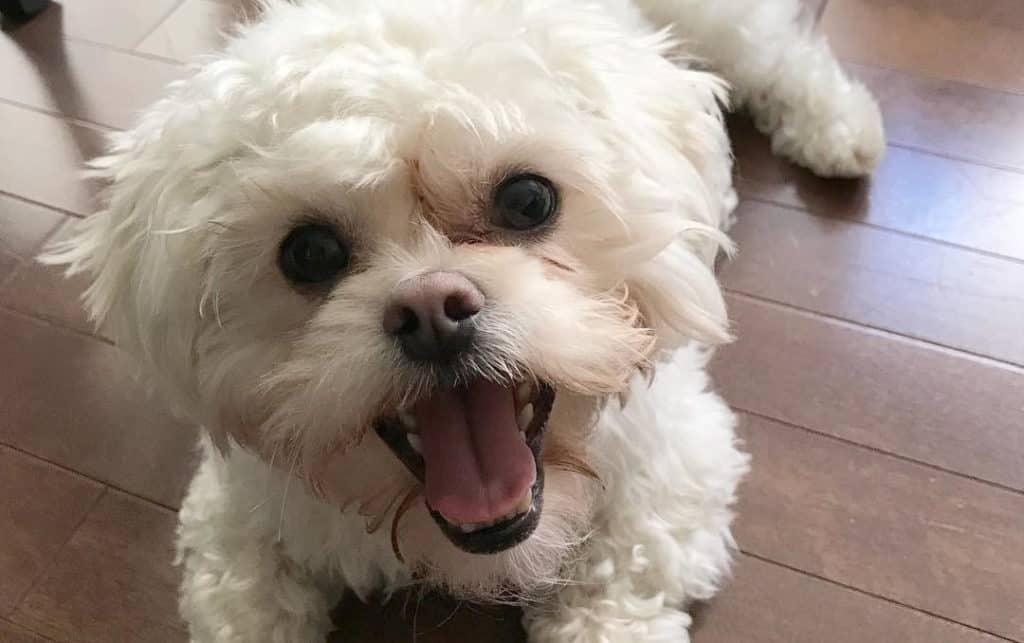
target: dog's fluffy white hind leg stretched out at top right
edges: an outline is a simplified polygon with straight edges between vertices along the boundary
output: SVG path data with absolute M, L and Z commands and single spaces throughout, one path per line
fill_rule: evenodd
M 801 0 L 637 0 L 733 87 L 776 154 L 822 176 L 869 173 L 885 152 L 878 103 L 842 70 Z

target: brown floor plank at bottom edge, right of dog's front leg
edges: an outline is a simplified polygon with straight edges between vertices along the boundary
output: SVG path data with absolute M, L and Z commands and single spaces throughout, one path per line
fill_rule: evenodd
M 693 643 L 996 643 L 1001 639 L 750 556 L 693 609 Z

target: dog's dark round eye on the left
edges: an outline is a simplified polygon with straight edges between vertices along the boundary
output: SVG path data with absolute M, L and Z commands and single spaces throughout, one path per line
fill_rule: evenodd
M 278 265 L 292 282 L 321 284 L 348 267 L 348 248 L 333 228 L 307 223 L 294 228 L 281 242 Z

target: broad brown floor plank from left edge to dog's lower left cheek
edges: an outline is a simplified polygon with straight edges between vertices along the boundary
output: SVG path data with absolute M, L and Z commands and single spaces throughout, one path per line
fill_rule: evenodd
M 0 310 L 0 442 L 176 506 L 196 431 L 134 381 L 99 340 Z

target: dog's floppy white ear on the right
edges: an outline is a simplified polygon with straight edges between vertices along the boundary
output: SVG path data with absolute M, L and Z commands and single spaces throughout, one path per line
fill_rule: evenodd
M 668 46 L 668 45 L 666 45 Z M 659 192 L 662 212 L 648 223 L 659 251 L 636 262 L 628 285 L 656 347 L 687 339 L 707 344 L 731 340 L 725 301 L 715 276 L 719 253 L 733 246 L 724 229 L 736 206 L 732 156 L 722 111 L 727 87 L 717 76 L 666 60 L 636 92 L 635 108 L 648 116 L 649 149 L 639 168 L 648 192 Z M 656 240 L 655 240 L 656 241 Z

